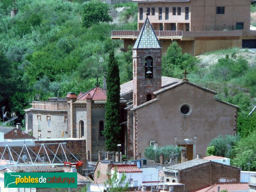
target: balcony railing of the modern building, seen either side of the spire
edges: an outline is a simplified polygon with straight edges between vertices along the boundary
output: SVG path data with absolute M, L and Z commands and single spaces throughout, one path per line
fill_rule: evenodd
M 140 31 L 111 31 L 112 37 L 136 37 L 139 35 Z M 183 31 L 159 31 L 156 30 L 155 34 L 157 37 L 182 37 Z

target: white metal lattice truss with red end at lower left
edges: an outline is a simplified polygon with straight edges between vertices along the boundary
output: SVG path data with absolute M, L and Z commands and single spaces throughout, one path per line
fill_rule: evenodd
M 65 142 L 0 145 L 0 167 L 81 166 L 83 161 L 78 160 L 65 145 Z

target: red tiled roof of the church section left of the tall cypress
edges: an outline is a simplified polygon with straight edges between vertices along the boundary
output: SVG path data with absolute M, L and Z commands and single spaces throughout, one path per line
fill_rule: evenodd
M 89 95 L 93 98 L 93 101 L 106 101 L 107 100 L 107 93 L 105 89 L 100 87 L 94 87 L 92 90 L 89 90 L 87 93 L 79 94 L 77 100 L 85 100 Z M 87 98 L 88 99 L 88 98 Z

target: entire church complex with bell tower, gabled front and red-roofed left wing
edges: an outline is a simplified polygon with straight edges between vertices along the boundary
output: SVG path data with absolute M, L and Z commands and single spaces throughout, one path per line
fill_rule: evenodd
M 217 92 L 186 79 L 161 76 L 162 48 L 148 17 L 133 47 L 133 80 L 120 86 L 122 148 L 139 158 L 149 145 L 186 146 L 187 158 L 205 156 L 209 142 L 236 134 L 238 106 L 215 99 Z M 106 90 L 68 93 L 64 99 L 34 101 L 26 109 L 26 131 L 38 138 L 81 138 L 98 159 L 105 151 Z

